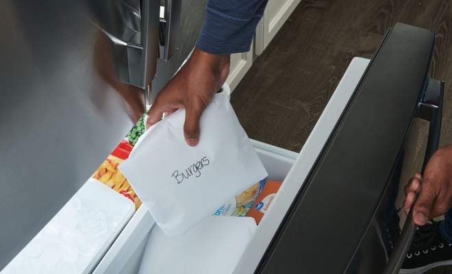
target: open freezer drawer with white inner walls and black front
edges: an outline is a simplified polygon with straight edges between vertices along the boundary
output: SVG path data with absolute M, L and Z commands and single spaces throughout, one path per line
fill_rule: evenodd
M 268 179 L 283 184 L 238 251 L 232 273 L 355 273 L 369 262 L 384 266 L 387 257 L 378 261 L 381 256 L 361 244 L 375 213 L 388 206 L 393 171 L 426 96 L 435 38 L 397 23 L 372 60 L 354 58 L 299 155 L 253 141 Z M 153 224 L 149 210 L 140 208 L 94 273 L 138 273 Z M 382 245 L 373 242 L 371 249 L 387 256 Z

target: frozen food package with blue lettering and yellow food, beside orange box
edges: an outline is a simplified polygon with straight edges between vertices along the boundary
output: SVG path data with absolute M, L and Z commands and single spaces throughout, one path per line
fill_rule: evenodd
M 264 181 L 260 181 L 253 186 L 244 190 L 236 197 L 225 203 L 221 208 L 218 208 L 213 215 L 216 216 L 247 216 L 249 209 L 253 203 L 258 199 L 258 195 L 264 187 Z

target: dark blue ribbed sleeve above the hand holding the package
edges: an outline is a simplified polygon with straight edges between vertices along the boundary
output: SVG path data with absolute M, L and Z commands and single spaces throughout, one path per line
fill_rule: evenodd
M 247 52 L 268 0 L 209 0 L 195 45 L 211 54 Z

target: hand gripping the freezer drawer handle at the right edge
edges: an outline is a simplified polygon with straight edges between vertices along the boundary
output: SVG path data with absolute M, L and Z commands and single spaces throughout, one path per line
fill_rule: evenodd
M 430 219 L 452 208 L 452 144 L 438 149 L 427 163 L 424 176 L 414 174 L 405 186 L 403 209 L 406 214 L 410 211 L 419 186 L 420 194 L 413 208 L 416 225 L 425 225 Z

